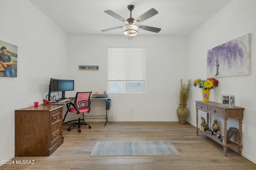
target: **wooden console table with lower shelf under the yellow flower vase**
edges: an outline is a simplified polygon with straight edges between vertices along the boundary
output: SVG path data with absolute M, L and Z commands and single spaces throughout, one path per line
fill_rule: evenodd
M 215 115 L 224 119 L 224 139 L 223 143 L 216 138 L 215 135 L 208 134 L 206 131 L 199 130 L 198 128 L 198 110 L 204 111 L 207 113 L 206 123 L 209 126 L 209 114 Z M 222 105 L 216 102 L 203 102 L 203 101 L 196 101 L 196 135 L 198 135 L 198 131 L 205 134 L 206 136 L 210 137 L 212 140 L 215 140 L 219 144 L 221 144 L 224 148 L 224 156 L 227 156 L 227 149 L 228 147 L 238 147 L 238 155 L 241 156 L 242 153 L 242 120 L 244 116 L 244 108 L 242 107 L 230 107 L 227 105 Z M 239 142 L 238 144 L 230 141 L 226 142 L 227 138 L 227 120 L 228 119 L 238 119 L 239 121 Z

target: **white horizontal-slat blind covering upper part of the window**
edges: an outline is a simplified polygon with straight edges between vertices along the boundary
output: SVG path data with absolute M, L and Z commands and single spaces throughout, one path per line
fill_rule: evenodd
M 108 48 L 108 81 L 145 80 L 146 48 Z

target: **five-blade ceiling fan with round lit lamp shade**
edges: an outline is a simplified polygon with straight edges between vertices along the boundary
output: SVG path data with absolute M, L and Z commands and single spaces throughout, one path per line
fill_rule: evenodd
M 132 18 L 132 11 L 134 9 L 134 5 L 128 5 L 127 8 L 130 11 L 130 18 L 128 18 L 127 20 L 125 20 L 124 18 L 122 18 L 121 16 L 119 16 L 118 14 L 114 13 L 111 10 L 104 11 L 114 18 L 116 18 L 122 22 L 126 22 L 126 25 L 118 26 L 118 27 L 114 27 L 114 28 L 108 28 L 106 30 L 101 30 L 101 31 L 106 32 L 106 31 L 116 30 L 119 28 L 124 28 L 124 35 L 126 35 L 126 36 L 136 36 L 138 34 L 138 28 L 140 28 L 142 30 L 150 31 L 150 32 L 156 32 L 156 33 L 160 32 L 161 28 L 138 25 L 138 23 L 140 23 L 144 20 L 147 20 L 148 18 L 151 18 L 152 16 L 158 14 L 157 10 L 155 10 L 154 8 L 151 8 L 150 10 L 148 10 L 147 12 L 145 12 L 138 18 L 134 19 L 134 18 Z

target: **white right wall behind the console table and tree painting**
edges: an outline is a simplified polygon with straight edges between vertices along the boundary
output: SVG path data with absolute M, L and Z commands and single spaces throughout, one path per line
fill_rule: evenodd
M 218 14 L 208 20 L 188 37 L 188 77 L 195 80 L 206 79 L 206 51 L 222 43 L 228 42 L 247 33 L 251 33 L 251 75 L 219 77 L 217 91 L 211 90 L 210 101 L 220 102 L 221 94 L 235 95 L 235 105 L 244 107 L 244 119 L 242 123 L 242 155 L 256 162 L 256 90 L 255 90 L 255 40 L 256 40 L 256 1 L 255 0 L 233 0 Z M 190 100 L 191 117 L 188 121 L 196 125 L 195 102 L 202 100 L 201 91 L 198 87 L 192 88 L 192 99 Z M 204 113 L 198 116 L 206 118 Z M 220 128 L 223 129 L 223 121 L 217 119 Z M 228 120 L 228 127 L 238 128 L 238 120 Z M 238 140 L 238 136 L 234 139 Z M 236 148 L 235 148 L 236 150 Z

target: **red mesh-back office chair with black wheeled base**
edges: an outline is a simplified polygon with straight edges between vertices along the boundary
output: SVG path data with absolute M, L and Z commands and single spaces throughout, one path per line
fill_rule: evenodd
M 74 103 L 67 103 L 67 108 L 69 112 L 72 113 L 76 113 L 78 114 L 78 123 L 73 123 L 70 127 L 75 127 L 76 125 L 78 125 L 78 132 L 81 132 L 80 130 L 80 125 L 88 125 L 89 128 L 92 128 L 89 124 L 87 124 L 84 121 L 84 113 L 90 112 L 91 109 L 91 101 L 90 101 L 90 95 L 92 94 L 92 92 L 77 92 L 76 93 L 76 98 Z M 70 106 L 73 107 L 70 107 Z M 80 117 L 80 113 L 83 113 L 83 122 L 81 123 L 81 117 Z M 70 131 L 70 127 L 68 127 L 68 131 Z

